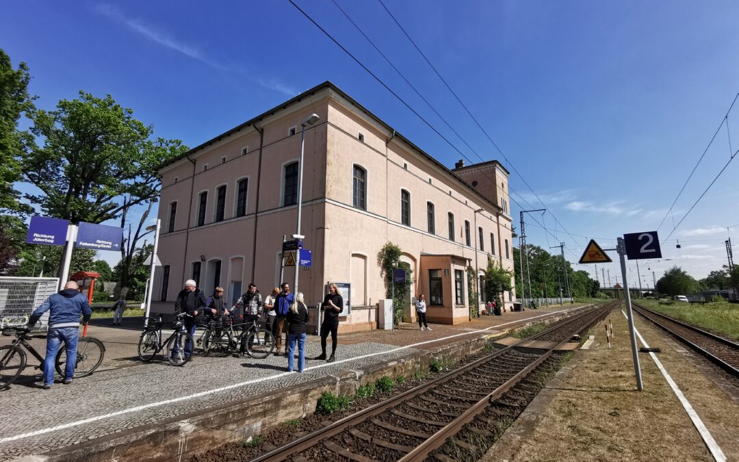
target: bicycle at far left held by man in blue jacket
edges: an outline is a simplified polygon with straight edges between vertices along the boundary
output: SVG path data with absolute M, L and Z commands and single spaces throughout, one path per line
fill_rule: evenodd
M 87 336 L 87 325 L 84 325 L 82 336 L 77 340 L 77 362 L 75 364 L 74 378 L 86 377 L 95 372 L 105 357 L 105 345 L 98 339 Z M 44 356 L 35 350 L 27 341 L 33 339 L 28 335 L 25 327 L 5 327 L 5 330 L 14 330 L 16 339 L 10 345 L 0 347 L 0 390 L 10 386 L 21 375 L 26 367 L 27 350 L 38 359 L 39 365 L 35 369 L 44 368 Z M 64 354 L 64 360 L 61 356 Z M 56 353 L 55 370 L 59 376 L 64 377 L 64 366 L 67 362 L 67 353 L 64 348 L 59 348 Z

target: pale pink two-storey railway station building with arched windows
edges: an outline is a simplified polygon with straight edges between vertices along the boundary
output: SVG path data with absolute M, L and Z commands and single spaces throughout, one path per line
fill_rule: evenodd
M 310 267 L 282 264 L 296 233 L 302 124 L 302 225 Z M 152 310 L 173 310 L 186 279 L 234 302 L 255 282 L 282 280 L 309 307 L 329 282 L 346 288 L 340 330 L 378 321 L 386 284 L 378 253 L 398 245 L 431 322 L 469 319 L 468 272 L 484 283 L 488 257 L 513 270 L 508 171 L 495 160 L 449 169 L 330 82 L 268 110 L 160 167 L 161 234 Z M 505 293 L 506 305 L 514 294 Z M 314 316 L 312 316 L 312 320 Z M 415 309 L 406 311 L 415 320 Z

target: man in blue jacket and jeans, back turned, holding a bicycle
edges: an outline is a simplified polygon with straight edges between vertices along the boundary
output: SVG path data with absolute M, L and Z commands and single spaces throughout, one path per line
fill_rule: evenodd
M 28 329 L 41 318 L 41 315 L 49 311 L 49 332 L 47 333 L 47 356 L 44 359 L 44 390 L 49 390 L 54 384 L 54 362 L 56 352 L 64 341 L 67 349 L 67 362 L 64 368 L 63 384 L 71 384 L 75 376 L 77 365 L 77 339 L 80 335 L 80 315 L 84 316 L 84 322 L 88 322 L 92 316 L 92 310 L 87 303 L 87 297 L 79 291 L 77 282 L 69 281 L 64 285 L 64 290 L 55 293 L 45 299 L 41 305 L 33 310 L 28 320 Z

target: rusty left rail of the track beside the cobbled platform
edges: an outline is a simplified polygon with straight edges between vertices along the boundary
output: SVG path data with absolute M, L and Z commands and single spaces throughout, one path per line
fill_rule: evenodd
M 612 304 L 608 303 L 607 305 L 612 305 Z M 589 310 L 587 313 L 582 313 L 579 316 L 573 316 L 572 319 L 565 319 L 564 321 L 562 321 L 565 324 L 560 323 L 556 327 L 551 327 L 550 329 L 543 330 L 542 332 L 536 333 L 533 336 L 528 337 L 527 339 L 522 339 L 521 342 L 525 342 L 527 340 L 534 340 L 534 339 L 537 339 L 539 336 L 545 335 L 547 333 L 551 333 L 551 331 L 553 330 L 561 329 L 562 327 L 565 327 L 566 325 L 570 325 L 572 322 L 575 322 L 576 320 L 581 319 L 583 316 L 592 314 L 596 310 L 605 310 L 607 305 L 603 305 L 602 307 L 595 308 L 594 310 Z M 608 309 L 611 309 L 611 308 L 613 307 L 609 307 Z M 583 329 L 584 328 L 585 327 L 583 327 Z M 580 330 L 578 330 L 577 332 L 579 331 Z M 575 335 L 575 333 L 573 333 L 573 335 Z M 567 343 L 568 340 L 569 339 L 561 342 L 560 344 Z M 557 344 L 557 346 L 559 346 L 560 344 Z M 393 396 L 392 398 L 389 398 L 386 401 L 382 401 L 378 404 L 373 404 L 372 406 L 367 407 L 364 410 L 355 412 L 353 415 L 348 415 L 345 418 L 342 418 L 336 422 L 333 422 L 333 424 L 330 424 L 328 427 L 325 427 L 324 429 L 321 429 L 317 432 L 309 433 L 308 435 L 304 435 L 301 438 L 296 439 L 295 441 L 291 441 L 290 443 L 285 444 L 284 446 L 280 446 L 276 449 L 266 452 L 265 454 L 260 455 L 259 457 L 253 458 L 251 459 L 251 461 L 253 462 L 284 461 L 287 455 L 303 452 L 306 449 L 310 449 L 311 447 L 319 444 L 321 441 L 326 440 L 328 438 L 332 438 L 340 434 L 341 432 L 344 432 L 344 430 L 346 430 L 347 428 L 353 427 L 356 424 L 360 424 L 361 422 L 367 421 L 369 418 L 372 418 L 375 415 L 379 415 L 382 412 L 391 410 L 393 407 L 395 407 L 398 404 L 401 404 L 403 401 L 407 401 L 410 398 L 415 398 L 418 395 L 422 395 L 423 393 L 426 393 L 426 391 L 433 389 L 440 384 L 444 384 L 447 381 L 453 381 L 458 376 L 468 373 L 470 370 L 474 370 L 474 368 L 480 366 L 480 364 L 484 364 L 488 361 L 491 361 L 491 359 L 496 359 L 497 357 L 503 356 L 503 354 L 511 350 L 514 350 L 514 347 L 515 345 L 503 347 L 500 350 L 497 350 L 494 353 L 491 353 L 491 355 L 484 356 L 483 358 L 472 361 L 469 364 L 465 364 L 463 367 L 460 367 L 458 370 L 454 370 L 451 373 L 448 373 L 438 378 L 432 379 L 431 381 L 426 382 L 426 384 L 422 384 L 418 387 L 412 388 L 411 390 L 407 390 L 406 392 L 401 393 L 400 395 L 397 395 L 397 396 Z M 538 359 L 535 360 L 535 362 L 537 362 L 538 364 Z M 519 375 L 520 373 L 517 374 L 517 376 Z M 513 380 L 513 378 L 506 381 L 506 383 L 510 382 L 511 380 Z M 482 401 L 484 401 L 487 404 L 487 402 L 489 401 L 489 396 L 490 395 L 486 395 L 486 398 L 483 398 Z M 479 401 L 478 401 L 478 404 L 479 404 Z M 369 460 L 367 458 L 363 458 L 363 459 Z

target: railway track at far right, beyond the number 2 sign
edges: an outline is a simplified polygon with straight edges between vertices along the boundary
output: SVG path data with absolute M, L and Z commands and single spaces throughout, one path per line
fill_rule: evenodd
M 698 351 L 730 375 L 739 378 L 739 344 L 698 327 L 671 319 L 641 305 L 632 303 L 634 310 L 678 340 Z

